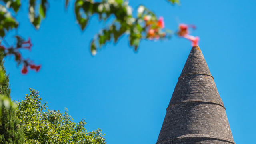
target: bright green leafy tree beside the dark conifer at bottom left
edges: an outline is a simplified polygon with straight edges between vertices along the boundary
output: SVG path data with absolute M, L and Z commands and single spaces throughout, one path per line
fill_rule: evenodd
M 87 132 L 86 122 L 75 123 L 67 110 L 49 110 L 39 92 L 31 88 L 25 100 L 18 102 L 16 114 L 25 144 L 106 144 L 100 129 Z

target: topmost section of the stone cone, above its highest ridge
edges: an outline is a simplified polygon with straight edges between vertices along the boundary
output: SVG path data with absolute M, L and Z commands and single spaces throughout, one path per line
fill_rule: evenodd
M 186 61 L 186 64 L 182 70 L 182 73 L 180 76 L 186 75 L 186 74 L 207 74 L 212 75 L 206 61 L 204 59 L 204 55 L 202 54 L 201 49 L 198 45 L 195 45 L 192 47 L 192 50 L 190 51 L 190 54 L 188 55 L 188 59 Z

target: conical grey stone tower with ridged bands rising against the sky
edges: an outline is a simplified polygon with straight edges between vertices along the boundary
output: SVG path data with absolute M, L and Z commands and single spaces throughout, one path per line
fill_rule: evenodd
M 156 144 L 235 144 L 226 110 L 198 46 L 178 78 Z

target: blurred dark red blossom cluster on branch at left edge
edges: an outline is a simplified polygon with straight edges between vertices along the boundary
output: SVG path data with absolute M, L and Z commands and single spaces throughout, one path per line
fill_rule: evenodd
M 4 56 L 13 55 L 15 57 L 15 60 L 16 60 L 18 65 L 23 64 L 23 68 L 21 70 L 22 74 L 27 74 L 28 73 L 28 68 L 38 72 L 41 68 L 41 65 L 34 64 L 32 62 L 32 60 L 24 59 L 21 56 L 21 53 L 19 52 L 20 49 L 31 50 L 32 43 L 31 43 L 30 38 L 27 41 L 25 41 L 20 36 L 15 36 L 15 37 L 16 37 L 16 40 L 17 40 L 17 44 L 16 44 L 15 47 L 10 46 L 9 48 L 7 48 L 7 47 L 1 45 L 1 43 L 0 43 L 0 51 L 2 51 L 4 53 Z

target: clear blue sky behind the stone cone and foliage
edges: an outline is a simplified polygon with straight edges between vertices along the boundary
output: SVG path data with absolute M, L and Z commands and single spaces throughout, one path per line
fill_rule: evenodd
M 180 22 L 195 24 L 192 34 L 216 82 L 237 144 L 252 144 L 256 137 L 255 32 L 256 1 L 131 0 L 134 10 L 144 4 L 163 16 L 166 28 Z M 40 30 L 28 20 L 27 6 L 17 15 L 18 34 L 30 37 L 26 57 L 42 64 L 40 72 L 20 73 L 13 58 L 6 58 L 11 96 L 22 100 L 28 88 L 40 91 L 51 109 L 69 109 L 76 122 L 86 118 L 86 128 L 102 128 L 108 144 L 154 144 L 166 108 L 191 46 L 177 37 L 166 41 L 141 42 L 138 52 L 128 46 L 127 36 L 104 46 L 91 56 L 89 43 L 107 26 L 94 16 L 83 32 L 76 24 L 73 3 L 64 10 L 63 0 L 50 0 Z M 15 32 L 8 34 L 12 44 Z

